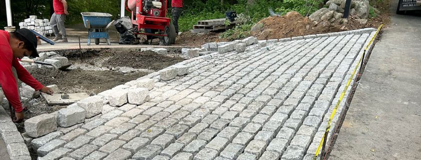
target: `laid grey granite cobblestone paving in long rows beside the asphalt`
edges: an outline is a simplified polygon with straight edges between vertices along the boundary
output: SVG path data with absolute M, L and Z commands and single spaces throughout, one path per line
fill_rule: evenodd
M 373 34 L 251 45 L 185 62 L 190 73 L 156 82 L 148 102 L 106 105 L 84 124 L 41 137 L 39 160 L 310 160 Z

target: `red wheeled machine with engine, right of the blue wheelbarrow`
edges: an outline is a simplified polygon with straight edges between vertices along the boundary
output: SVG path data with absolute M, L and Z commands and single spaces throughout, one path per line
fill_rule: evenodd
M 164 45 L 175 43 L 175 28 L 166 17 L 167 0 L 128 0 L 126 10 L 132 13 L 135 33 L 147 35 L 147 40 L 159 38 Z

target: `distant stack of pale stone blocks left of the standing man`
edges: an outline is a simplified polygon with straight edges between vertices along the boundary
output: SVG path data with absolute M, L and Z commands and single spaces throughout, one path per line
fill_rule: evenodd
M 43 36 L 54 33 L 50 26 L 50 20 L 37 19 L 36 15 L 29 15 L 29 18 L 19 22 L 19 26 L 20 28 L 32 29 Z

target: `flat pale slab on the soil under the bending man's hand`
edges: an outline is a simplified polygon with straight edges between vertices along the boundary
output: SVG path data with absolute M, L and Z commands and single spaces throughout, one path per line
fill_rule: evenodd
M 89 97 L 87 93 L 69 93 L 69 99 L 62 99 L 61 94 L 47 95 L 42 93 L 49 105 L 70 105 L 81 99 Z

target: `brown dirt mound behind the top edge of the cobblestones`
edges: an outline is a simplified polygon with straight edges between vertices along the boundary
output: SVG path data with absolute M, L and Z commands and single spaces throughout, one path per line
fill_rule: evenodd
M 315 26 L 309 18 L 303 17 L 295 11 L 289 12 L 284 16 L 267 17 L 260 20 L 257 24 L 263 24 L 262 29 L 253 32 L 260 40 L 327 33 L 339 30 L 336 26 Z

